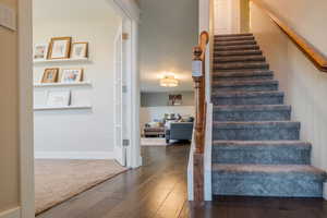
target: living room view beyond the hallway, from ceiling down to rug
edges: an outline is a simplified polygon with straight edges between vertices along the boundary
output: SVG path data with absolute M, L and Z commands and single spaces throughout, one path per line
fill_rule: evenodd
M 191 68 L 197 4 L 180 1 L 172 9 L 167 1 L 140 2 L 145 17 L 140 24 L 142 148 L 189 146 L 195 113 Z

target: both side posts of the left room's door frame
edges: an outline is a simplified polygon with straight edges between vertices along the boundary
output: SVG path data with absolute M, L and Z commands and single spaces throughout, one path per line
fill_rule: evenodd
M 108 0 L 131 19 L 131 99 L 132 130 L 130 167 L 142 165 L 140 155 L 140 88 L 137 70 L 137 26 L 140 10 L 134 1 Z M 17 0 L 19 43 L 19 147 L 20 147 L 20 208 L 21 218 L 35 217 L 34 192 L 34 117 L 33 117 L 33 0 Z

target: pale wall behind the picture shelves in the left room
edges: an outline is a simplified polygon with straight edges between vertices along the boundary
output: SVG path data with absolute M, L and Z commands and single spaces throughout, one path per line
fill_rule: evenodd
M 109 5 L 109 4 L 108 4 Z M 74 10 L 74 8 L 70 8 Z M 76 9 L 77 10 L 77 9 Z M 35 152 L 37 157 L 105 158 L 113 154 L 113 40 L 121 20 L 108 7 L 99 19 L 89 11 L 81 19 L 34 19 L 34 44 L 51 37 L 72 36 L 88 41 L 90 63 L 35 65 L 34 81 L 39 82 L 45 68 L 84 68 L 92 87 L 73 87 L 72 105 L 93 106 L 92 110 L 35 112 Z M 60 12 L 59 12 L 60 13 Z M 85 16 L 86 15 L 86 16 Z M 93 17 L 93 15 L 95 17 Z M 55 89 L 55 88 L 51 88 Z M 56 88 L 59 89 L 59 88 Z M 45 104 L 45 88 L 35 88 L 35 105 Z

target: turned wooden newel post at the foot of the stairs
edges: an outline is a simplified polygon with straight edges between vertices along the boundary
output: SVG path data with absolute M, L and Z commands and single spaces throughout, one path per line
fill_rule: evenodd
M 206 126 L 206 48 L 209 41 L 209 34 L 202 32 L 198 46 L 193 48 L 193 61 L 197 61 L 202 66 L 202 75 L 193 76 L 195 89 L 195 124 L 193 154 L 193 186 L 194 201 L 204 201 L 204 147 L 205 147 L 205 126 Z

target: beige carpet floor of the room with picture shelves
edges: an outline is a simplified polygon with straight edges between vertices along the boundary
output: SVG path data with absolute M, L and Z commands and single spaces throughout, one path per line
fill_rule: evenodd
M 114 160 L 35 160 L 35 205 L 40 214 L 128 169 Z

